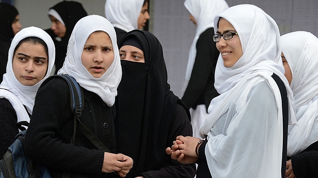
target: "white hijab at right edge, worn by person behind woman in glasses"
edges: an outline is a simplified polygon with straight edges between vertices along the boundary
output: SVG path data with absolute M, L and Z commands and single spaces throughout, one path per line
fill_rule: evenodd
M 318 140 L 318 38 L 304 31 L 281 37 L 282 52 L 292 72 L 298 126 L 289 126 L 287 155 Z

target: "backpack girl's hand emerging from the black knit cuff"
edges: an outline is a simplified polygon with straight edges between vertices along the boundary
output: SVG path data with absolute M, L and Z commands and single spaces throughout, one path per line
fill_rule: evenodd
M 125 166 L 125 162 L 122 162 L 123 160 L 123 155 L 105 152 L 101 172 L 111 173 L 114 171 L 120 171 Z

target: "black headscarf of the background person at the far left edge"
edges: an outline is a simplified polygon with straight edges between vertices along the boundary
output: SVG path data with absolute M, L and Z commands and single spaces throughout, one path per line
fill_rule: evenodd
M 16 8 L 12 5 L 4 2 L 0 3 L 0 83 L 3 74 L 6 72 L 8 51 L 14 37 L 12 23 L 18 14 Z

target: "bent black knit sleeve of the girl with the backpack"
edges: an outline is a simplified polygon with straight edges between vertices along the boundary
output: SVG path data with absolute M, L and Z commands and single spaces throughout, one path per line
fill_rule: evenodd
M 74 128 L 70 97 L 68 84 L 59 78 L 38 90 L 25 135 L 25 154 L 50 171 L 100 175 L 104 152 L 70 144 Z

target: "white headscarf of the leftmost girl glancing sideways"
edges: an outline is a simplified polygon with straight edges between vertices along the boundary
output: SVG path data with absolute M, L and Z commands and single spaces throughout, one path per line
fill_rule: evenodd
M 24 86 L 22 85 L 14 76 L 12 69 L 12 59 L 14 48 L 18 43 L 27 37 L 38 37 L 42 39 L 48 46 L 48 57 L 49 64 L 47 73 L 40 82 L 34 86 Z M 55 47 L 51 37 L 42 29 L 37 27 L 27 27 L 19 31 L 13 38 L 12 43 L 9 48 L 8 62 L 6 65 L 6 73 L 3 75 L 3 81 L 0 84 L 0 98 L 6 98 L 12 104 L 14 110 L 16 111 L 17 120 L 19 121 L 30 121 L 24 106 L 27 108 L 28 112 L 32 114 L 32 109 L 34 105 L 34 99 L 37 90 L 39 89 L 42 82 L 50 76 L 53 65 L 55 61 Z M 7 89 L 7 90 L 5 90 Z M 24 106 L 23 106 L 24 105 Z

